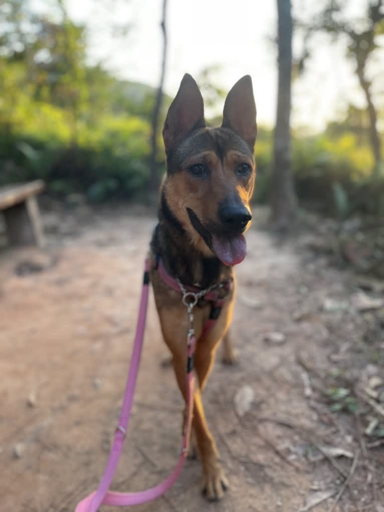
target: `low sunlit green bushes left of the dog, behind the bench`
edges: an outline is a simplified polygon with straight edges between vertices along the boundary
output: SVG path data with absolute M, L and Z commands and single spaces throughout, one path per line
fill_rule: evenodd
M 91 201 L 132 198 L 146 186 L 150 155 L 146 121 L 107 117 L 95 127 L 78 123 L 77 143 L 71 144 L 69 132 L 55 123 L 57 110 L 46 111 L 45 122 L 38 124 L 48 132 L 33 133 L 27 125 L 19 133 L 0 136 L 0 184 L 40 178 L 55 195 L 76 191 Z

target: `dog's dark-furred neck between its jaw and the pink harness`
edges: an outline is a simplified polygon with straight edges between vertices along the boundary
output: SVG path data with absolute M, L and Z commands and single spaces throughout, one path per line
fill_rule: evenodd
M 228 279 L 232 274 L 231 267 L 223 265 L 215 256 L 205 257 L 193 246 L 164 196 L 161 197 L 159 224 L 152 240 L 152 249 L 160 255 L 167 271 L 187 286 L 198 284 L 206 288 Z

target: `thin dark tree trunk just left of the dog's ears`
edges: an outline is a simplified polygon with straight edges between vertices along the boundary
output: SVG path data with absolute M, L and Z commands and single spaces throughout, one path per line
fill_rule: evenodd
M 167 57 L 167 33 L 165 27 L 165 17 L 166 17 L 166 8 L 167 8 L 167 0 L 163 0 L 163 14 L 161 20 L 161 30 L 163 33 L 163 54 L 161 61 L 161 73 L 160 73 L 160 83 L 159 88 L 156 94 L 155 107 L 153 111 L 152 118 L 152 136 L 151 136 L 151 182 L 150 188 L 152 191 L 156 191 L 160 185 L 160 174 L 157 165 L 157 134 L 159 130 L 159 118 L 161 111 L 161 102 L 163 99 L 163 85 L 164 85 L 164 76 L 165 76 L 165 65 L 166 65 L 166 57 Z

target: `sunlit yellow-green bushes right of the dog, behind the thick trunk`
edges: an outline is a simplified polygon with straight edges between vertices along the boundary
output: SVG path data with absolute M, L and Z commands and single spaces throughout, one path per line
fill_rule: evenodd
M 292 169 L 296 193 L 307 207 L 344 218 L 353 211 L 384 214 L 384 173 L 373 173 L 373 156 L 361 134 L 346 124 L 321 135 L 293 134 Z M 269 199 L 272 132 L 261 127 L 255 145 L 255 202 Z

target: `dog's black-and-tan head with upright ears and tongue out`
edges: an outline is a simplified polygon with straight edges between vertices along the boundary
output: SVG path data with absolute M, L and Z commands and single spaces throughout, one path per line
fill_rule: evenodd
M 208 128 L 197 84 L 184 75 L 164 123 L 162 201 L 196 249 L 206 257 L 213 252 L 226 265 L 245 258 L 256 133 L 250 76 L 229 91 L 221 127 Z

